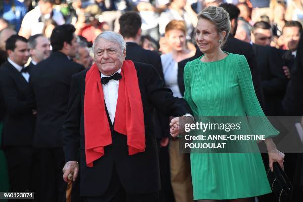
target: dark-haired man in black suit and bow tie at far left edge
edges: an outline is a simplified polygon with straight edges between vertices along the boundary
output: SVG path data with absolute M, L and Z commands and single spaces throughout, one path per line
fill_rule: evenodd
M 7 159 L 10 191 L 34 191 L 32 147 L 35 116 L 26 102 L 30 74 L 24 68 L 28 58 L 27 39 L 12 35 L 6 41 L 7 61 L 0 68 L 4 99 L 2 146 Z

